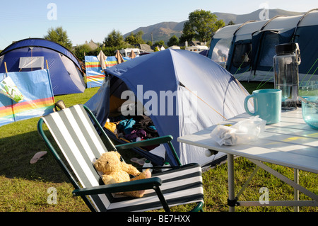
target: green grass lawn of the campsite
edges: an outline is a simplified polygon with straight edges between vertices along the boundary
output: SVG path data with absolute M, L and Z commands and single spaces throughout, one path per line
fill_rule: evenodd
M 242 83 L 252 93 L 259 83 Z M 264 84 L 261 89 L 273 88 L 273 84 Z M 86 103 L 98 91 L 98 88 L 86 89 L 83 94 L 56 96 L 55 100 L 63 100 L 66 106 Z M 4 125 L 0 128 L 0 212 L 86 212 L 89 211 L 83 200 L 73 197 L 73 186 L 66 179 L 51 154 L 36 164 L 30 164 L 30 159 L 36 152 L 48 151 L 37 134 L 39 118 L 23 120 Z M 176 139 L 176 138 L 175 138 Z M 289 179 L 293 179 L 293 169 L 269 164 Z M 245 180 L 255 169 L 255 165 L 244 158 L 235 159 L 235 191 L 239 191 Z M 228 211 L 228 171 L 227 164 L 221 164 L 209 169 L 203 174 L 206 212 Z M 300 171 L 300 185 L 318 193 L 317 174 Z M 270 200 L 293 200 L 293 188 L 271 176 L 266 171 L 259 170 L 252 179 L 240 200 L 259 200 L 259 189 L 269 188 Z M 51 189 L 57 191 L 57 202 L 50 199 Z M 307 197 L 300 193 L 300 200 Z M 174 208 L 175 211 L 188 210 L 189 207 Z M 236 208 L 237 211 L 293 211 L 293 208 Z M 304 212 L 317 212 L 318 208 L 300 208 Z

